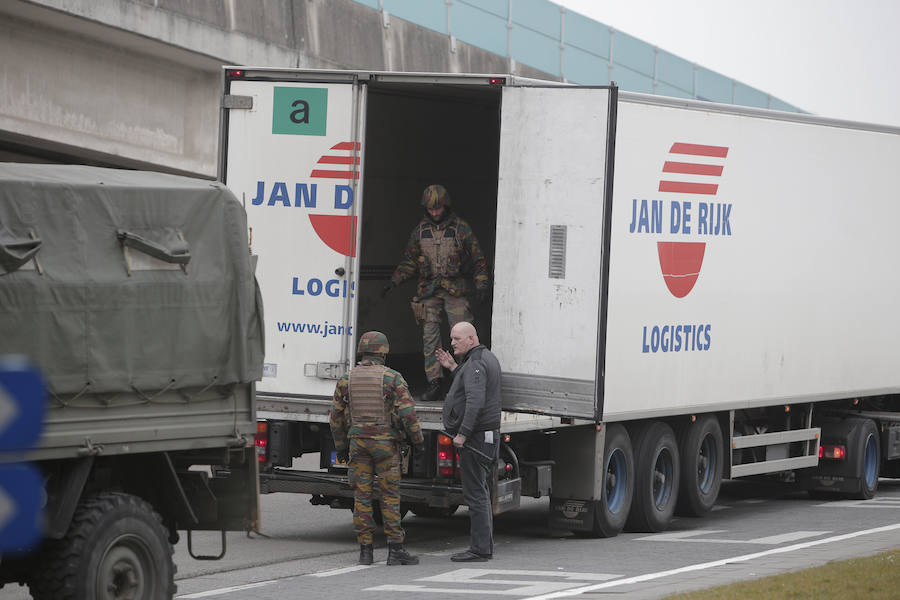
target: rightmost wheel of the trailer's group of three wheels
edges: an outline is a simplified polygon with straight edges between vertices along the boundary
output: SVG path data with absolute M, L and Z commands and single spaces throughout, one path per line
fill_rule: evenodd
M 681 488 L 675 511 L 702 517 L 712 510 L 722 488 L 725 443 L 722 427 L 713 415 L 700 417 L 678 431 Z

